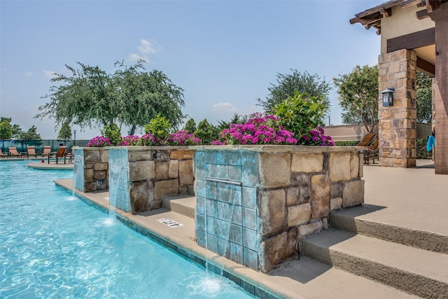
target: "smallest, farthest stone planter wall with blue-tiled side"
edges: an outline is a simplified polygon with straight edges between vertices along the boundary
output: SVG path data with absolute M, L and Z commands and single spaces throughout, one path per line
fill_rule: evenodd
M 107 148 L 73 148 L 73 184 L 81 192 L 109 188 L 109 155 Z

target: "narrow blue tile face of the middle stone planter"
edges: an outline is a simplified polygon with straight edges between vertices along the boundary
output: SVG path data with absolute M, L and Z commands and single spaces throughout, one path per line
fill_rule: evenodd
M 130 212 L 127 148 L 109 149 L 109 203 Z

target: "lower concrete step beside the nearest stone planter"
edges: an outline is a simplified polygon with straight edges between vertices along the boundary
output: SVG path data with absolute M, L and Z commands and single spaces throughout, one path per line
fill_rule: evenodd
M 325 230 L 306 237 L 304 256 L 423 298 L 448 298 L 448 255 Z

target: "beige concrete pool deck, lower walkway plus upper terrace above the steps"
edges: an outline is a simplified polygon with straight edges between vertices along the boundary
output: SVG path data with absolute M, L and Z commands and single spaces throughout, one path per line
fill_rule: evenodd
M 365 221 L 397 225 L 411 230 L 424 230 L 448 237 L 448 176 L 435 175 L 433 162 L 419 160 L 417 167 L 398 169 L 370 165 L 364 167 L 365 204 L 377 207 L 367 214 L 358 215 Z M 71 190 L 72 180 L 57 180 L 58 186 Z M 80 193 L 78 196 L 90 204 L 107 211 L 109 193 Z M 255 295 L 262 298 L 418 298 L 379 282 L 356 276 L 316 260 L 302 257 L 290 260 L 268 274 L 256 272 L 226 258 L 207 252 L 195 241 L 195 221 L 169 209 L 161 208 L 132 215 L 120 210 L 116 213 L 126 224 L 146 235 L 174 244 L 174 251 L 195 260 L 210 260 L 213 265 L 223 265 L 225 271 L 241 277 L 255 286 Z M 182 226 L 172 228 L 160 223 L 169 218 Z M 141 229 L 143 228 L 143 229 Z M 377 249 L 381 251 L 381 248 Z M 382 253 L 387 255 L 387 252 Z M 242 281 L 235 281 L 244 284 Z M 257 289 L 267 293 L 257 293 Z

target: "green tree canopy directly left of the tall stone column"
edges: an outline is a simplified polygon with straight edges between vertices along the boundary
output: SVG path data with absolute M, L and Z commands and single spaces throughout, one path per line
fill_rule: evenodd
M 342 123 L 363 123 L 367 132 L 372 132 L 378 122 L 378 65 L 357 65 L 333 82 L 342 107 Z

